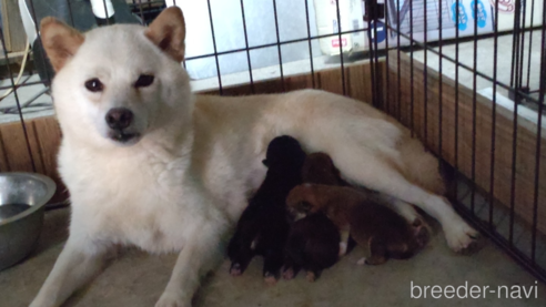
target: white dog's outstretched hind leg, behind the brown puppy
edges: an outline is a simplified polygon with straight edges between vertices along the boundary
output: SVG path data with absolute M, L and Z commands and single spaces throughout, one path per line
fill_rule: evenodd
M 478 233 L 458 216 L 444 197 L 411 183 L 388 163 L 373 155 L 358 156 L 342 153 L 334 156 L 334 161 L 350 181 L 415 204 L 436 218 L 442 224 L 447 244 L 453 250 L 462 252 L 475 246 Z

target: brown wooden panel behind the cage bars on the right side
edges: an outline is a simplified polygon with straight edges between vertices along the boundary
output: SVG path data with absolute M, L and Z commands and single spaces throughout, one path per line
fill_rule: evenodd
M 412 127 L 416 135 L 425 142 L 427 147 L 437 155 L 442 155 L 449 164 L 457 166 L 468 178 L 474 177 L 476 184 L 489 193 L 492 149 L 494 150 L 494 197 L 507 206 L 512 203 L 513 147 L 516 149 L 515 163 L 515 212 L 528 223 L 533 222 L 537 126 L 517 119 L 517 129 L 514 134 L 513 112 L 497 106 L 496 122 L 493 126 L 493 103 L 491 100 L 477 95 L 473 105 L 472 90 L 458 86 L 458 103 L 456 104 L 455 82 L 443 76 L 439 83 L 438 73 L 427 69 L 427 99 L 425 110 L 424 72 L 422 63 L 414 61 L 414 70 L 410 68 L 410 58 L 401 53 L 400 65 L 402 84 L 397 84 L 397 52 L 390 52 L 390 84 L 391 99 L 398 103 L 401 91 L 401 113 L 392 113 L 404 125 Z M 413 76 L 413 103 L 411 95 L 411 79 Z M 443 92 L 439 98 L 439 86 Z M 413 112 L 412 112 L 413 105 Z M 442 108 L 442 124 L 439 123 L 439 108 Z M 458 117 L 456 119 L 456 113 Z M 425 121 L 426 114 L 426 121 Z M 475 114 L 475 115 L 474 115 Z M 475 117 L 474 117 L 475 116 Z M 476 129 L 473 130 L 475 120 Z M 455 135 L 457 133 L 457 137 Z M 495 145 L 492 147 L 492 136 Z M 442 149 L 439 136 L 442 135 Z M 515 136 L 515 137 L 514 137 Z M 546 132 L 543 130 L 540 144 L 539 186 L 538 186 L 538 229 L 546 234 Z M 455 142 L 457 140 L 457 146 Z M 514 142 L 515 140 L 515 142 Z M 473 160 L 473 142 L 475 158 Z M 473 173 L 474 161 L 474 173 Z

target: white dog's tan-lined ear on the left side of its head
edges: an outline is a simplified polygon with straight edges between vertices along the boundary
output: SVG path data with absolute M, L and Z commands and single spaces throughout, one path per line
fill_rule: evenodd
M 40 22 L 40 35 L 43 49 L 55 71 L 61 70 L 74 57 L 84 40 L 78 30 L 52 17 L 47 17 Z

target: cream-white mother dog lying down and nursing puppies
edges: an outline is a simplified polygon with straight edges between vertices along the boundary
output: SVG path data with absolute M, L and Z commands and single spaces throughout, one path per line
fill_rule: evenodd
M 326 152 L 343 177 L 412 203 L 439 221 L 458 252 L 476 232 L 438 196 L 437 162 L 394 120 L 322 92 L 194 95 L 180 65 L 184 19 L 163 11 L 146 29 L 85 34 L 41 23 L 57 71 L 53 96 L 63 140 L 59 170 L 72 202 L 70 237 L 31 306 L 58 306 L 102 267 L 114 244 L 180 252 L 156 306 L 190 306 L 200 276 L 224 254 L 225 234 L 260 186 L 269 142 L 287 134 Z

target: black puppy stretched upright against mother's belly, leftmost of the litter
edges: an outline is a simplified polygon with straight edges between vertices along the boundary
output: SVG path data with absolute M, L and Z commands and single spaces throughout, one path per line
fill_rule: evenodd
M 304 160 L 305 153 L 294 137 L 279 136 L 269 144 L 263 161 L 267 166 L 265 180 L 241 215 L 235 235 L 228 246 L 228 256 L 232 260 L 231 275 L 241 275 L 254 255 L 262 255 L 265 282 L 276 282 L 290 231 L 286 196 L 302 183 Z

